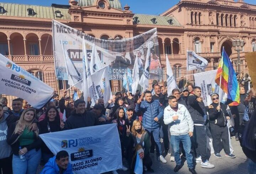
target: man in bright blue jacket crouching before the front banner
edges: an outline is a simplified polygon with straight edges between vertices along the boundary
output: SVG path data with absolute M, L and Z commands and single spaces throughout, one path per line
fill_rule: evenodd
M 68 152 L 62 150 L 50 158 L 40 174 L 73 174 Z

